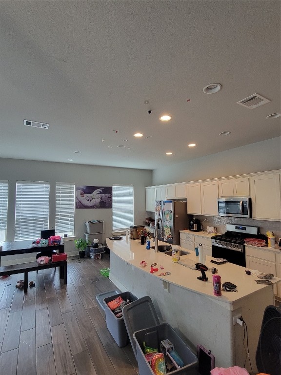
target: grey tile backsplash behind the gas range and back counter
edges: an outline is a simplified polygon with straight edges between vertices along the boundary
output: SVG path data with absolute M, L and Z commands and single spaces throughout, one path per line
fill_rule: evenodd
M 239 224 L 239 225 L 250 225 L 253 227 L 259 227 L 261 234 L 265 234 L 268 230 L 272 231 L 275 235 L 275 241 L 281 237 L 281 222 L 280 221 L 266 221 L 266 220 L 254 220 L 246 218 L 237 218 L 231 216 L 194 216 L 203 223 L 203 227 L 207 230 L 207 226 L 216 227 L 218 233 L 224 233 L 226 231 L 226 224 Z

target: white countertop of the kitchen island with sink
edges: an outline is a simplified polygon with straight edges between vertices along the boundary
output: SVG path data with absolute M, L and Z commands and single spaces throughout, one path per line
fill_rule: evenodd
M 190 232 L 190 231 L 187 231 Z M 193 232 L 190 232 L 193 233 Z M 212 235 L 204 232 L 196 232 L 202 233 L 202 236 Z M 151 246 L 154 245 L 152 241 Z M 209 296 L 210 298 L 214 298 L 216 300 L 221 300 L 222 303 L 231 304 L 238 301 L 241 298 L 246 297 L 252 293 L 259 291 L 262 288 L 267 288 L 267 285 L 258 285 L 255 282 L 255 279 L 258 277 L 255 275 L 247 275 L 245 270 L 246 268 L 237 266 L 232 263 L 225 263 L 222 265 L 216 265 L 211 263 L 212 257 L 206 256 L 205 265 L 208 268 L 215 267 L 218 270 L 218 275 L 221 276 L 221 284 L 223 282 L 232 282 L 233 284 L 237 285 L 238 292 L 222 292 L 221 296 L 215 296 L 213 294 L 213 274 L 211 271 L 206 271 L 206 276 L 209 278 L 207 282 L 201 281 L 197 279 L 197 276 L 201 276 L 201 272 L 197 270 L 191 270 L 188 267 L 185 267 L 181 264 L 174 263 L 172 261 L 172 257 L 165 255 L 162 252 L 156 253 L 155 250 L 150 249 L 146 250 L 145 245 L 141 245 L 140 240 L 131 240 L 128 239 L 126 241 L 125 237 L 123 240 L 116 240 L 111 241 L 109 238 L 106 239 L 106 244 L 111 251 L 113 251 L 117 256 L 119 256 L 122 260 L 131 264 L 135 267 L 138 267 L 143 272 L 150 272 L 150 265 L 152 263 L 157 263 L 156 268 L 159 271 L 153 273 L 153 276 L 160 277 L 162 280 L 178 285 L 182 288 L 204 294 Z M 165 244 L 159 241 L 159 244 Z M 186 249 L 185 249 L 186 250 Z M 191 251 L 189 255 L 181 256 L 181 261 L 185 261 L 188 264 L 195 264 L 199 263 L 199 258 L 196 257 L 195 252 Z M 145 261 L 147 266 L 142 268 L 140 263 L 141 261 Z M 163 269 L 161 270 L 161 266 Z M 162 272 L 171 272 L 170 275 L 167 276 L 159 276 Z M 281 281 L 280 278 L 274 277 L 272 280 L 273 284 L 276 284 Z

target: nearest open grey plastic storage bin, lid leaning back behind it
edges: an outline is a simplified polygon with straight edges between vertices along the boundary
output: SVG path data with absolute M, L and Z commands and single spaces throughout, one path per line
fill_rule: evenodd
M 174 350 L 180 355 L 184 363 L 183 367 L 171 371 L 169 374 L 198 374 L 197 356 L 169 324 L 159 324 L 158 316 L 149 296 L 142 297 L 124 306 L 123 317 L 133 351 L 138 360 L 140 375 L 155 375 L 143 353 L 143 341 L 147 346 L 158 348 L 158 351 L 160 351 L 160 343 L 166 339 L 174 345 Z

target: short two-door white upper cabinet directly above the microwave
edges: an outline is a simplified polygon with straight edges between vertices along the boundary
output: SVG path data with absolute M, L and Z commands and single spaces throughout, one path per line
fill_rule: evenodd
M 249 177 L 219 181 L 220 197 L 248 197 L 250 195 Z

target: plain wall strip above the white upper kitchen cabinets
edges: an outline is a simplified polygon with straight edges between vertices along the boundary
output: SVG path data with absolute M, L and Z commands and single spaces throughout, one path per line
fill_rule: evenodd
M 281 169 L 280 137 L 175 164 L 169 166 L 169 168 L 154 169 L 152 185 L 236 176 L 277 169 Z

